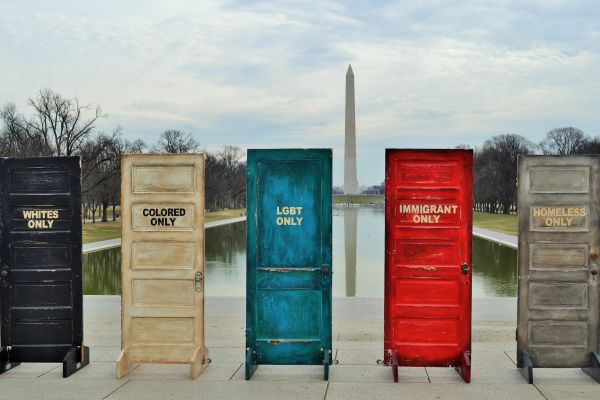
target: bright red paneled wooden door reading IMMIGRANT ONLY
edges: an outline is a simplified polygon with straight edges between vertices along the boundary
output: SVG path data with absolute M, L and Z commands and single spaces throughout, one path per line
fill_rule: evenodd
M 470 382 L 471 150 L 386 150 L 385 363 Z

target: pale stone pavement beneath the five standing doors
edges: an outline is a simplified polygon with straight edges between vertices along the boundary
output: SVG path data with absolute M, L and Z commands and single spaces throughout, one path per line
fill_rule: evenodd
M 209 297 L 206 342 L 212 363 L 196 380 L 187 365 L 142 365 L 115 379 L 120 298 L 85 296 L 89 366 L 67 379 L 59 364 L 21 364 L 0 376 L 0 399 L 599 399 L 600 385 L 578 369 L 534 370 L 528 385 L 515 367 L 516 300 L 474 299 L 473 382 L 452 368 L 401 368 L 400 382 L 377 365 L 383 353 L 382 299 L 334 299 L 334 354 L 319 366 L 258 367 L 244 380 L 244 299 Z

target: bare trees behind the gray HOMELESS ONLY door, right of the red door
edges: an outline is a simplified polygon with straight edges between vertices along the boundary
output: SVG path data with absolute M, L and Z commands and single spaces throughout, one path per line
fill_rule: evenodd
M 482 147 L 474 149 L 473 155 L 475 211 L 516 212 L 519 154 L 600 154 L 600 137 L 590 137 L 578 128 L 564 127 L 550 130 L 537 144 L 516 134 L 486 140 Z

